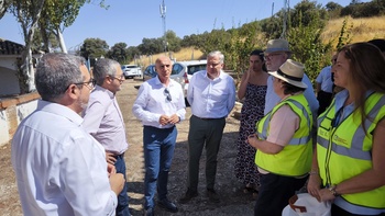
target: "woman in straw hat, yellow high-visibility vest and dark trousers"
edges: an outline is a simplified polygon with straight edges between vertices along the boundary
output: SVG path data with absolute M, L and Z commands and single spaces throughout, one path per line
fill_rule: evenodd
M 280 216 L 310 171 L 312 114 L 304 95 L 304 65 L 287 59 L 268 73 L 280 102 L 256 123 L 256 134 L 248 141 L 257 149 L 255 163 L 261 172 L 254 215 Z

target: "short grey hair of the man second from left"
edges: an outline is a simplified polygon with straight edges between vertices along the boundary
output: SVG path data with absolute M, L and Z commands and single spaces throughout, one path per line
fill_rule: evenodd
M 109 58 L 97 60 L 92 70 L 94 79 L 97 81 L 97 84 L 101 86 L 107 76 L 114 77 L 118 72 L 117 66 L 120 67 L 120 64 Z

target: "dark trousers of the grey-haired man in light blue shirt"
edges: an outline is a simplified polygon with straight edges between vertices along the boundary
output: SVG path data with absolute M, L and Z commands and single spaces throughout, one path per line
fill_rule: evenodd
M 217 155 L 222 139 L 226 118 L 190 117 L 188 132 L 188 174 L 187 186 L 196 191 L 199 181 L 199 160 L 206 148 L 206 186 L 213 189 L 217 174 Z M 205 146 L 206 144 L 206 146 Z

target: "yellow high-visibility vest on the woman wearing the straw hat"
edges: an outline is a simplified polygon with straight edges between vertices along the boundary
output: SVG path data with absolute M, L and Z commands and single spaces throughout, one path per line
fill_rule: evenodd
M 256 123 L 256 133 L 260 139 L 265 140 L 267 138 L 271 118 L 283 105 L 289 105 L 292 111 L 298 115 L 300 120 L 299 128 L 295 132 L 292 140 L 280 152 L 268 155 L 262 151 L 256 151 L 255 163 L 260 168 L 272 173 L 300 177 L 310 170 L 312 157 L 312 115 L 305 96 L 302 94 L 297 94 L 282 101 L 272 112 L 267 113 Z

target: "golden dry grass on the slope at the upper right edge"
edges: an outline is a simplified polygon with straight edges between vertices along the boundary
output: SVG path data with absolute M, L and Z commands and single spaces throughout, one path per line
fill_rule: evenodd
M 332 42 L 336 46 L 343 24 L 344 18 L 330 20 L 322 33 L 324 43 Z M 373 38 L 385 37 L 385 15 L 375 18 L 348 18 L 348 29 L 351 29 L 351 43 L 367 42 Z

